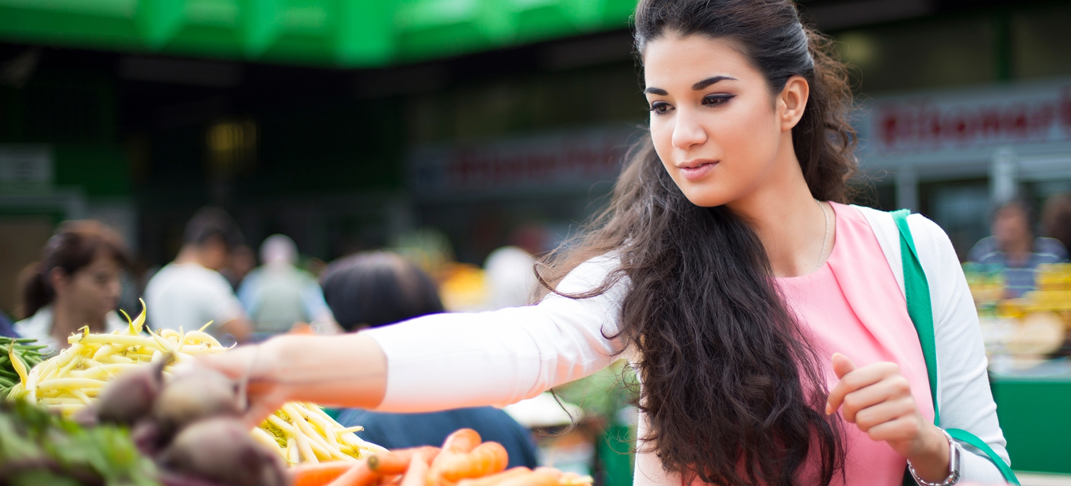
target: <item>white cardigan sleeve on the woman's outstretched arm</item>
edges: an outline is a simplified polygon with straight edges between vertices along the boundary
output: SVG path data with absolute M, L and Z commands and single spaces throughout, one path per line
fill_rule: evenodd
M 558 291 L 583 293 L 615 268 L 612 256 L 576 267 Z M 379 410 L 417 412 L 509 405 L 590 375 L 616 359 L 622 278 L 608 292 L 478 314 L 435 314 L 365 331 L 387 355 Z

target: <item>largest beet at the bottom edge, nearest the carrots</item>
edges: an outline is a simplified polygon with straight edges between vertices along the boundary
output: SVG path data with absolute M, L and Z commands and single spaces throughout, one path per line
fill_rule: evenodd
M 214 418 L 182 429 L 157 458 L 160 466 L 226 486 L 286 486 L 282 458 L 250 435 L 238 419 Z

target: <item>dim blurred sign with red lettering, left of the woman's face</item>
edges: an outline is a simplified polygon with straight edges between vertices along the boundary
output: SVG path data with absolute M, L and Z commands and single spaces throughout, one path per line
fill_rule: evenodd
M 408 157 L 409 184 L 423 199 L 585 190 L 617 178 L 634 132 L 598 128 L 417 147 Z

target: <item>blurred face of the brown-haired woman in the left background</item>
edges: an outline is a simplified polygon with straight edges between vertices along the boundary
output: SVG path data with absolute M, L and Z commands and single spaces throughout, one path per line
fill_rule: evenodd
M 119 264 L 107 252 L 101 251 L 88 266 L 69 277 L 54 280 L 56 297 L 86 316 L 103 317 L 119 304 L 122 292 L 119 272 Z

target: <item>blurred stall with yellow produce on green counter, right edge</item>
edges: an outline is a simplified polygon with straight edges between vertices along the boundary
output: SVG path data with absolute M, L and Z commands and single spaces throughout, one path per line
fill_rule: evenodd
M 964 266 L 1012 467 L 1071 473 L 1071 264 L 1039 266 L 1036 289 L 1009 292 L 999 267 Z

